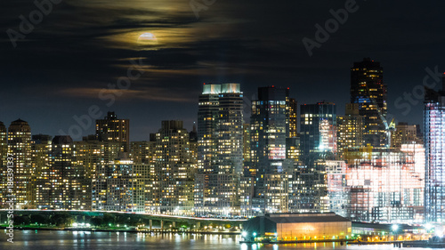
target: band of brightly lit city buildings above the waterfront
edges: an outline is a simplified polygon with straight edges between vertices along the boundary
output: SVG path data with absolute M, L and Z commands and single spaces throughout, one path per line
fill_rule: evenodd
M 15 206 L 245 218 L 336 212 L 360 222 L 422 222 L 431 199 L 424 190 L 441 185 L 427 184 L 423 176 L 441 171 L 441 157 L 431 151 L 442 150 L 436 131 L 443 129 L 442 119 L 436 111 L 425 114 L 425 125 L 432 125 L 425 144 L 417 125 L 399 123 L 394 131 L 381 115 L 384 105 L 374 109 L 386 100 L 381 92 L 375 101 L 376 89 L 385 85 L 383 69 L 369 69 L 371 61 L 355 62 L 351 69 L 354 103 L 345 106 L 345 116 L 337 116 L 336 104 L 326 101 L 301 104 L 298 112 L 289 88 L 271 85 L 257 89 L 245 124 L 242 88 L 231 83 L 202 85 L 193 131 L 181 120 L 162 120 L 150 141 L 128 141 L 130 120 L 115 112 L 97 117 L 97 109 L 89 110 L 97 117 L 96 132 L 82 141 L 33 135 L 20 119 L 6 136 L 3 125 L 2 149 L 17 163 Z M 361 67 L 368 71 L 357 81 Z M 429 91 L 425 101 L 440 94 Z M 360 114 L 360 104 L 367 112 Z M 434 105 L 442 109 L 441 103 Z M 79 121 L 85 123 L 85 117 Z M 6 171 L 3 167 L 0 174 L 3 187 Z M 1 202 L 4 206 L 5 199 Z

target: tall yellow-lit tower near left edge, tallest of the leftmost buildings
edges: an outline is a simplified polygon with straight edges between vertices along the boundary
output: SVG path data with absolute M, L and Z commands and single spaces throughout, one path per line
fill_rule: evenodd
M 9 126 L 8 154 L 14 157 L 15 206 L 18 209 L 32 208 L 36 193 L 32 181 L 31 128 L 27 122 L 18 119 Z

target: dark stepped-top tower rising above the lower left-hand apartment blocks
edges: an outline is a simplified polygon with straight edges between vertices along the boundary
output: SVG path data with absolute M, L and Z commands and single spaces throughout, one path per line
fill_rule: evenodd
M 96 137 L 99 141 L 119 142 L 121 151 L 128 152 L 130 144 L 130 120 L 118 119 L 114 112 L 108 112 L 107 117 L 96 120 Z

